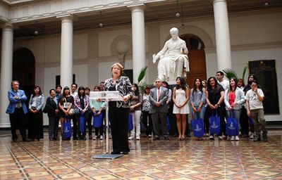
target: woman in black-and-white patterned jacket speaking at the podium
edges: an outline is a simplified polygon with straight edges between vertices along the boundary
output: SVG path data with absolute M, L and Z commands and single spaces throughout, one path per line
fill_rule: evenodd
M 130 151 L 128 146 L 128 115 L 130 103 L 133 96 L 132 85 L 128 77 L 121 76 L 123 65 L 114 63 L 111 66 L 111 78 L 106 79 L 105 91 L 118 91 L 123 101 L 109 102 L 109 120 L 111 123 L 111 136 L 113 140 L 113 151 L 111 154 L 127 155 Z

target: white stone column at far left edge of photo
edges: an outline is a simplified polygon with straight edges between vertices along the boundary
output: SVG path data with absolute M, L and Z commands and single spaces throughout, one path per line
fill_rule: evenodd
M 0 127 L 11 127 L 6 109 L 8 107 L 8 91 L 11 89 L 13 77 L 13 25 L 6 23 L 2 27 L 0 75 Z

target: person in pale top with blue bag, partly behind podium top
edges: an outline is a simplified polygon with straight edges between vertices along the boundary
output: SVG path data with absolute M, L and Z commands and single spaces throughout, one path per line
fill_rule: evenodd
M 100 91 L 100 86 L 94 86 L 94 91 Z M 93 121 L 95 120 L 101 120 L 101 123 L 97 124 L 101 124 L 100 127 L 95 127 L 96 122 L 93 122 L 93 126 L 95 128 L 95 136 L 93 137 L 93 140 L 96 139 L 104 139 L 104 127 L 103 127 L 103 114 L 102 114 L 102 110 L 105 108 L 105 102 L 103 102 L 101 99 L 94 99 L 91 98 L 90 99 L 90 108 L 92 110 L 93 113 Z M 102 116 L 102 118 L 100 117 L 100 119 L 98 119 L 97 117 Z

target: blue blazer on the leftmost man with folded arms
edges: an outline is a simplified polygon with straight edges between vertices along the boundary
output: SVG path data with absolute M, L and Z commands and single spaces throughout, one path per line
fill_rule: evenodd
M 18 99 L 13 98 L 13 96 L 18 96 Z M 18 94 L 17 94 L 16 91 L 11 89 L 10 91 L 8 91 L 8 100 L 10 101 L 10 103 L 8 105 L 6 113 L 13 114 L 17 106 L 17 103 L 19 101 L 22 104 L 23 113 L 27 113 L 27 108 L 25 106 L 25 101 L 27 100 L 27 96 L 25 96 L 25 91 L 18 89 Z

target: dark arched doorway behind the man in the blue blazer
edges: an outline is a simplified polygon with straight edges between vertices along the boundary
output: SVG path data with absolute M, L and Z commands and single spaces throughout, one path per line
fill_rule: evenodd
M 13 53 L 13 80 L 20 82 L 20 89 L 25 90 L 29 100 L 35 86 L 35 56 L 27 48 L 17 49 Z

